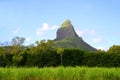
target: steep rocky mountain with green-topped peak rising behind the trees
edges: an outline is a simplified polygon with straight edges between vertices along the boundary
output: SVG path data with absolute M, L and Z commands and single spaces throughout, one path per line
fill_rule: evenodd
M 77 35 L 70 20 L 66 20 L 61 24 L 53 43 L 56 48 L 79 48 L 82 50 L 96 51 L 95 48 L 87 44 Z

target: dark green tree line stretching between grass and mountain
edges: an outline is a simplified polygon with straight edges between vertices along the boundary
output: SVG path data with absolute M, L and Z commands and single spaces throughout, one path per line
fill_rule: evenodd
M 0 46 L 0 67 L 120 67 L 120 46 L 108 51 L 54 48 L 52 40 L 24 46 L 25 38 L 15 37 L 10 46 Z

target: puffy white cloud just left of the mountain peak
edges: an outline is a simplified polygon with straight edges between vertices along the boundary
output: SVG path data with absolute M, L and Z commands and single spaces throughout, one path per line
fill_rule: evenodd
M 42 27 L 36 29 L 36 35 L 43 35 L 46 31 L 57 29 L 57 25 L 49 26 L 47 23 L 43 23 Z

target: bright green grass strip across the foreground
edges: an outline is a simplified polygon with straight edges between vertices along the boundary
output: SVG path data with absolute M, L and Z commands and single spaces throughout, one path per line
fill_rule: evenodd
M 0 80 L 120 80 L 120 68 L 0 68 Z

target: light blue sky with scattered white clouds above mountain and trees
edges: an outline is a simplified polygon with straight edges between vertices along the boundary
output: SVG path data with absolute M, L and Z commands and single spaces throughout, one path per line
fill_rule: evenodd
M 25 45 L 55 39 L 71 20 L 77 34 L 97 49 L 120 45 L 120 0 L 0 0 L 0 42 L 25 37 Z

